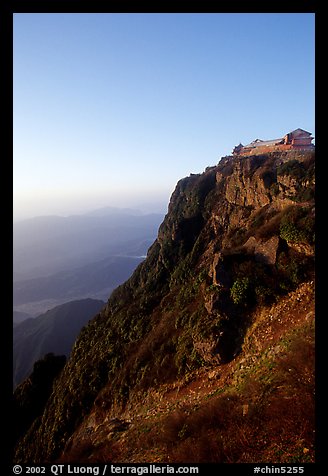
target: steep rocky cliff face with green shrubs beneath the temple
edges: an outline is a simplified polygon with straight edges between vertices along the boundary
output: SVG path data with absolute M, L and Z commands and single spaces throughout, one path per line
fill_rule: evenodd
M 88 425 L 114 428 L 163 385 L 237 362 L 259 310 L 313 288 L 313 259 L 313 151 L 225 157 L 180 180 L 147 259 L 82 330 L 15 461 L 69 458 Z

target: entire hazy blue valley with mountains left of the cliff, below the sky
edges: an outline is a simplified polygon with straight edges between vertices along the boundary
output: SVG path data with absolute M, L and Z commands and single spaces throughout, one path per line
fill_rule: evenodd
M 14 223 L 14 386 L 44 355 L 69 355 L 81 328 L 145 259 L 162 220 L 105 208 Z

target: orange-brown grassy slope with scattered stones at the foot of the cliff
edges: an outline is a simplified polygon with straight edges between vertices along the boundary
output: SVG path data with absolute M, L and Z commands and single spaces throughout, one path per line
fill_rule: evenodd
M 313 462 L 313 288 L 255 311 L 230 363 L 91 415 L 61 461 Z

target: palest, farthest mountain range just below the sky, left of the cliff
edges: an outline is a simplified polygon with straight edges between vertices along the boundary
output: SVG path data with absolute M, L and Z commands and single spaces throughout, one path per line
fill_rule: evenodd
M 14 281 L 49 276 L 114 255 L 130 256 L 140 243 L 154 240 L 163 219 L 161 214 L 129 214 L 126 210 L 98 213 L 15 223 Z

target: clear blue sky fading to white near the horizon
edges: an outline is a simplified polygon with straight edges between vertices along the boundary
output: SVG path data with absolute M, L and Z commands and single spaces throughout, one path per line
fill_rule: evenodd
M 239 142 L 314 131 L 314 14 L 14 15 L 14 216 L 168 203 Z

